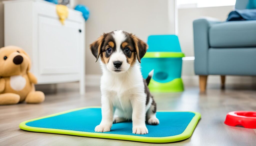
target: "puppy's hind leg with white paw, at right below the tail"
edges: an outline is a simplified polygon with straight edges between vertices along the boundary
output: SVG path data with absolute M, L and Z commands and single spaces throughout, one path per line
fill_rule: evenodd
M 159 120 L 156 118 L 156 103 L 153 99 L 150 108 L 147 110 L 147 122 L 150 125 L 158 125 Z

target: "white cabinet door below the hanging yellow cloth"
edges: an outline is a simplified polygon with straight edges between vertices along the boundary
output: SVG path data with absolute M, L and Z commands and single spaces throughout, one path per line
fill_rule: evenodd
M 38 17 L 38 69 L 40 75 L 79 73 L 81 24 L 57 18 Z

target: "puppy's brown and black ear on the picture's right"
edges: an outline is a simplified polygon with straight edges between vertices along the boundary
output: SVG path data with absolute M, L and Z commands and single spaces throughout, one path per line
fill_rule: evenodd
M 136 54 L 137 54 L 137 59 L 141 63 L 142 57 L 145 55 L 147 52 L 148 45 L 132 33 L 130 33 L 131 38 L 133 39 L 134 46 L 136 49 Z

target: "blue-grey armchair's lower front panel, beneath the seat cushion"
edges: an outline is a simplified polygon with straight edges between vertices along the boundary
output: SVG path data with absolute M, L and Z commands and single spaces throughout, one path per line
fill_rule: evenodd
M 209 48 L 209 74 L 256 75 L 255 55 L 255 47 Z

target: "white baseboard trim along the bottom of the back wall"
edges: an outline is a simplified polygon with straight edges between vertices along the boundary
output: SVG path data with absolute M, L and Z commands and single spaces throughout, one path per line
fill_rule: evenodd
M 100 86 L 101 75 L 86 75 L 86 86 Z M 199 76 L 182 76 L 185 85 L 199 85 Z M 256 77 L 253 76 L 226 76 L 225 84 L 252 85 L 256 83 Z M 209 75 L 207 84 L 221 84 L 220 75 Z

